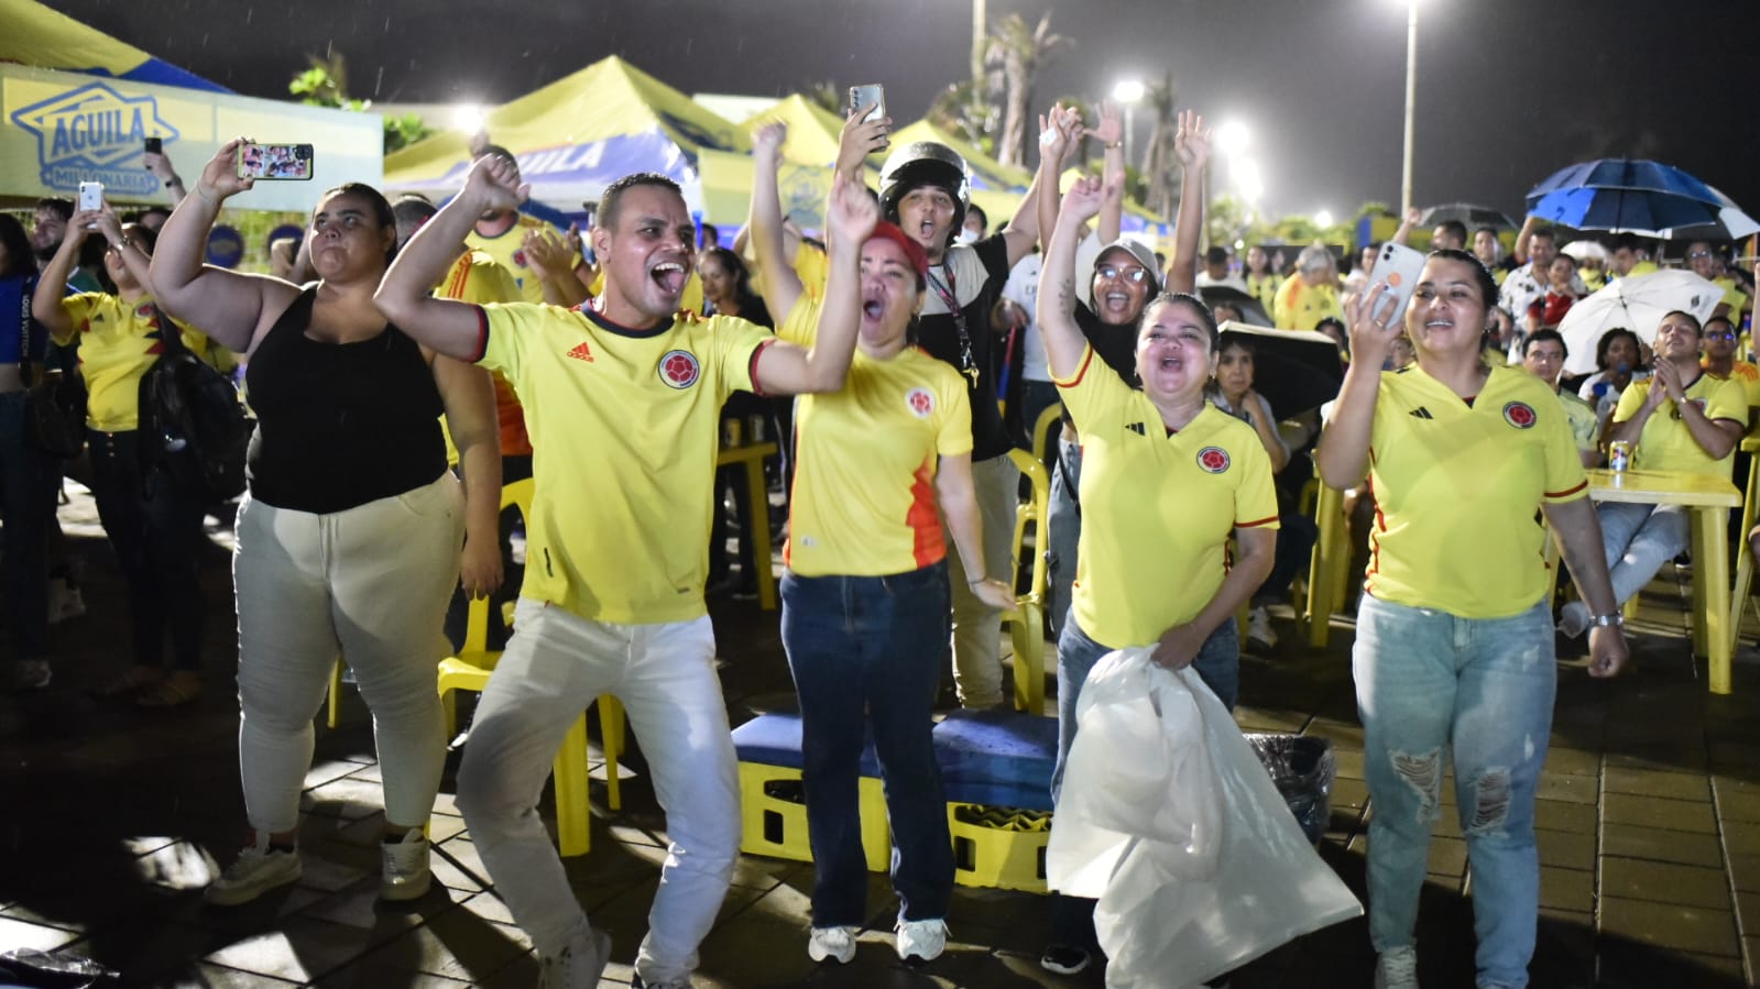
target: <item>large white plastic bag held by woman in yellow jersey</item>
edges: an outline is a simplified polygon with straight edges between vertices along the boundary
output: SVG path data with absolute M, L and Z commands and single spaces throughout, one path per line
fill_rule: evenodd
M 1100 899 L 1109 987 L 1199 985 L 1362 913 L 1197 672 L 1119 649 L 1077 720 L 1045 875 Z

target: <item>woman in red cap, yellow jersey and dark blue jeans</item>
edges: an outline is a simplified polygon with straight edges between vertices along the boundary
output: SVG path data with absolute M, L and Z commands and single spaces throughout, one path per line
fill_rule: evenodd
M 781 130 L 766 127 L 753 139 L 780 144 Z M 866 220 L 873 225 L 878 211 L 868 197 L 850 201 L 850 209 L 875 213 Z M 771 303 L 788 313 L 778 336 L 810 347 L 820 304 L 783 262 L 774 174 L 759 174 L 752 213 Z M 1005 574 L 984 572 L 966 382 L 915 347 L 929 255 L 880 222 L 861 264 L 861 331 L 848 380 L 841 391 L 803 396 L 796 408 L 783 551 L 781 641 L 801 699 L 801 776 L 817 869 L 806 950 L 813 961 L 850 961 L 868 919 L 857 780 L 871 727 L 892 825 L 898 956 L 929 961 L 947 943 L 954 889 L 947 799 L 929 741 L 952 634 L 940 516 L 972 593 L 994 609 L 1012 607 L 1014 593 Z

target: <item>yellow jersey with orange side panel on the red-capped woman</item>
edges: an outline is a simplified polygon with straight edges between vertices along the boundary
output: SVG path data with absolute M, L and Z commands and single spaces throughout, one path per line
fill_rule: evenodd
M 818 303 L 803 297 L 780 336 L 813 345 Z M 794 412 L 796 468 L 783 560 L 804 577 L 880 577 L 947 556 L 936 512 L 938 456 L 972 452 L 966 380 L 906 347 L 889 361 L 855 350 L 841 391 Z

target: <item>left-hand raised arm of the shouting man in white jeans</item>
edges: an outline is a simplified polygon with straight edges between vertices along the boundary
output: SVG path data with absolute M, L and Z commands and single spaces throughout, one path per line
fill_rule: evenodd
M 517 209 L 530 185 L 517 185 L 519 169 L 500 155 L 484 155 L 465 176 L 465 188 L 435 213 L 385 271 L 373 294 L 380 315 L 424 347 L 459 361 L 482 357 L 482 322 L 477 306 L 428 294 L 465 246 L 465 236 L 486 209 Z

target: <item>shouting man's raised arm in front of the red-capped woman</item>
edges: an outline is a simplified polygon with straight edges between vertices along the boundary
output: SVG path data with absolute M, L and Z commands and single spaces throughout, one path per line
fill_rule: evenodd
M 880 206 L 866 188 L 847 178 L 831 179 L 831 202 L 825 206 L 831 273 L 825 278 L 825 304 L 818 310 L 818 331 L 810 348 L 783 341 L 764 348 L 753 373 L 760 391 L 808 394 L 843 387 L 862 320 L 862 245 L 878 222 Z

